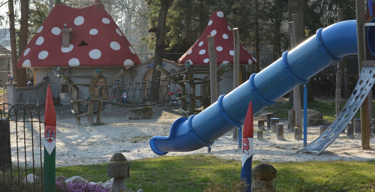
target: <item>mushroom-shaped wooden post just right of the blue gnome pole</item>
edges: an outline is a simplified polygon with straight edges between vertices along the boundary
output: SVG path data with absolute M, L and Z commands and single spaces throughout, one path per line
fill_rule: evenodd
M 256 165 L 252 170 L 254 181 L 251 185 L 252 192 L 274 192 L 275 184 L 273 179 L 276 178 L 277 170 L 270 164 L 261 163 Z

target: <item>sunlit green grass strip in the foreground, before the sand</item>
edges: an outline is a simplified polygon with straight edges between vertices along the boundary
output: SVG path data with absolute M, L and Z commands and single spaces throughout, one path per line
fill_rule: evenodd
M 207 155 L 164 156 L 132 160 L 127 188 L 146 192 L 195 192 L 209 188 L 208 182 L 228 186 L 240 180 L 241 162 Z M 261 163 L 253 161 L 253 167 Z M 312 161 L 270 163 L 278 170 L 277 191 L 336 191 L 340 188 L 375 191 L 374 161 Z M 93 182 L 107 181 L 108 164 L 56 168 L 57 176 L 81 176 Z M 325 188 L 320 188 L 325 187 Z M 371 189 L 372 188 L 372 189 Z M 341 189 L 344 191 L 343 189 Z M 356 190 L 354 190 L 356 191 Z

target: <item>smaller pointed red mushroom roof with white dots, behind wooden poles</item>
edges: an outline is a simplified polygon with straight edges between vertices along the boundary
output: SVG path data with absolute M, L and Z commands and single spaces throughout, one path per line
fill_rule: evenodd
M 217 65 L 223 61 L 233 64 L 234 38 L 232 29 L 222 11 L 212 13 L 210 21 L 204 29 L 201 37 L 190 47 L 187 52 L 178 59 L 178 63 L 189 61 L 193 65 L 209 65 L 207 36 L 213 35 L 217 55 Z M 256 64 L 257 60 L 240 44 L 240 65 Z

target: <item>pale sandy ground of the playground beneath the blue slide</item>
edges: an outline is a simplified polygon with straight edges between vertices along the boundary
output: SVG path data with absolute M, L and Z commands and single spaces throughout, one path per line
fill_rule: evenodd
M 97 126 L 76 126 L 74 115 L 71 113 L 57 114 L 57 142 L 56 142 L 56 166 L 88 165 L 108 163 L 115 153 L 122 153 L 128 160 L 154 158 L 149 146 L 152 136 L 167 136 L 172 123 L 180 117 L 177 105 L 152 106 L 153 118 L 149 120 L 126 119 L 127 110 L 130 107 L 106 105 L 102 112 L 102 122 Z M 266 108 L 267 109 L 267 108 Z M 266 110 L 264 110 L 266 112 Z M 44 116 L 41 117 L 44 120 Z M 87 124 L 87 118 L 81 118 L 82 124 Z M 254 129 L 257 128 L 257 116 L 254 117 Z M 355 134 L 354 139 L 347 139 L 346 133 L 339 136 L 321 155 L 310 153 L 297 153 L 302 148 L 303 141 L 294 140 L 294 133 L 287 132 L 287 120 L 284 123 L 285 140 L 277 140 L 276 133 L 264 132 L 264 139 L 257 140 L 254 134 L 253 160 L 267 162 L 285 161 L 332 161 L 332 160 L 375 160 L 375 138 L 371 137 L 370 150 L 361 149 L 360 135 Z M 44 127 L 42 126 L 42 129 Z M 30 137 L 31 131 L 26 131 L 25 138 Z M 12 130 L 14 140 L 15 130 Z M 308 143 L 318 137 L 319 126 L 308 126 Z M 34 133 L 35 134 L 35 133 Z M 19 136 L 20 137 L 20 136 Z M 21 136 L 22 137 L 22 136 Z M 30 139 L 26 140 L 27 148 L 30 148 Z M 19 147 L 23 147 L 24 141 L 19 140 Z M 16 143 L 12 142 L 13 149 Z M 34 146 L 38 146 L 35 144 Z M 13 162 L 17 161 L 17 152 L 12 149 Z M 36 150 L 37 151 L 37 150 Z M 168 155 L 205 154 L 221 158 L 241 161 L 242 149 L 238 149 L 238 142 L 232 141 L 232 132 L 229 131 L 211 146 L 211 153 L 207 148 L 192 152 L 169 152 Z M 20 159 L 24 158 L 19 154 Z M 26 154 L 32 157 L 31 150 Z M 40 159 L 38 152 L 35 161 Z

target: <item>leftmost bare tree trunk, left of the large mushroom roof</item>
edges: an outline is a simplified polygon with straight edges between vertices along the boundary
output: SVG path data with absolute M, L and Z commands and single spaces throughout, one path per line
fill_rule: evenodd
M 16 31 L 14 24 L 14 3 L 13 0 L 8 1 L 9 7 L 9 32 L 10 32 L 10 52 L 12 53 L 12 69 L 13 69 L 13 78 L 16 75 L 15 69 L 17 64 L 17 43 L 16 43 Z

